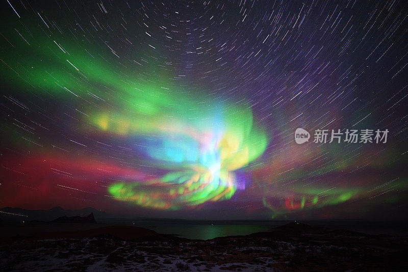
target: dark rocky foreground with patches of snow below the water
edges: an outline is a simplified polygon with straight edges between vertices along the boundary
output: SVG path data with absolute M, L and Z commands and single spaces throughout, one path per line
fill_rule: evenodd
M 246 236 L 190 240 L 134 227 L 15 236 L 0 270 L 407 271 L 408 237 L 293 222 Z

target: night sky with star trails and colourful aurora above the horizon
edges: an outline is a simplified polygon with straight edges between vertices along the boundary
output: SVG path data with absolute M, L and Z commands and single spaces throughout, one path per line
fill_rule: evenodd
M 6 0 L 0 12 L 0 207 L 406 219 L 407 2 Z M 346 140 L 367 129 L 372 142 Z

